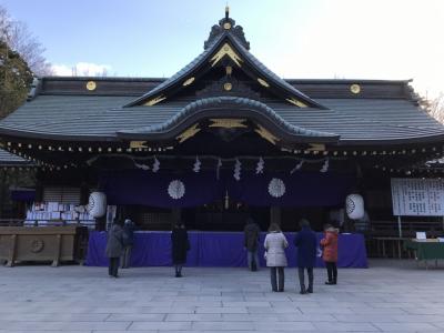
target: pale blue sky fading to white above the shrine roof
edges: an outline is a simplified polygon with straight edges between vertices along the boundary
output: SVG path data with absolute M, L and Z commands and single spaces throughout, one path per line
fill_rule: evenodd
M 203 48 L 225 0 L 0 0 L 60 74 L 170 77 Z M 444 91 L 444 1 L 230 0 L 251 52 L 284 78 L 414 79 Z M 82 64 L 83 63 L 83 64 Z

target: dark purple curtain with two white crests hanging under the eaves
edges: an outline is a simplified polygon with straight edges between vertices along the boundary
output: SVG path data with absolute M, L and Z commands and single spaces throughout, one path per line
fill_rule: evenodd
M 284 184 L 280 196 L 270 191 L 272 179 Z M 183 188 L 173 199 L 169 192 L 172 181 L 178 180 Z M 222 199 L 228 191 L 231 199 L 250 205 L 268 206 L 333 206 L 343 204 L 354 184 L 354 178 L 342 174 L 320 172 L 241 173 L 236 181 L 226 170 L 220 179 L 215 172 L 153 173 L 143 170 L 103 172 L 100 184 L 107 193 L 110 204 L 143 204 L 160 208 L 198 206 Z M 178 196 L 178 195 L 176 195 Z

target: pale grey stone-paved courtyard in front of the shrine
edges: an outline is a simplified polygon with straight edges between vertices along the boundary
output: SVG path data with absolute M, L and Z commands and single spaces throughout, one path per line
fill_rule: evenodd
M 444 332 L 444 266 L 371 261 L 343 269 L 339 285 L 315 270 L 314 294 L 272 293 L 266 269 L 121 271 L 42 265 L 0 268 L 1 332 Z

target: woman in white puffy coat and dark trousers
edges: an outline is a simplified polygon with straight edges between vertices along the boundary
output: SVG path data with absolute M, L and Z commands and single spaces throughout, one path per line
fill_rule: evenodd
M 264 248 L 266 266 L 270 268 L 271 273 L 271 287 L 274 292 L 284 291 L 284 268 L 287 265 L 285 249 L 287 246 L 289 242 L 279 225 L 276 223 L 270 224 L 269 233 L 264 241 Z

